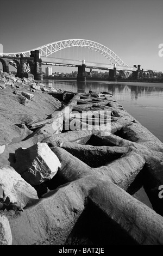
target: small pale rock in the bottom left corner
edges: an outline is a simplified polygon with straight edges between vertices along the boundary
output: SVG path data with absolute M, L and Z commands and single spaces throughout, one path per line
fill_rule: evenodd
M 12 234 L 8 218 L 0 215 L 0 245 L 12 245 Z

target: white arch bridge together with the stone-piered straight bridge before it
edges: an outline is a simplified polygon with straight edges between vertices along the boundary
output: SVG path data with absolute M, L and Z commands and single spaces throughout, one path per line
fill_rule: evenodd
M 70 47 L 85 47 L 93 51 L 102 54 L 110 63 L 96 63 L 89 62 L 87 60 L 73 60 L 73 59 L 63 59 L 63 58 L 52 58 L 49 55 L 61 51 L 62 49 Z M 116 80 L 116 72 L 121 72 L 121 75 L 128 77 L 131 73 L 135 80 L 138 80 L 141 76 L 152 77 L 158 76 L 156 73 L 154 75 L 149 72 L 140 69 L 140 65 L 134 65 L 133 67 L 128 66 L 123 60 L 118 57 L 113 51 L 108 47 L 101 45 L 97 42 L 84 40 L 84 39 L 69 39 L 53 42 L 41 47 L 36 48 L 36 50 L 18 52 L 18 53 L 5 53 L 1 54 L 0 62 L 3 65 L 3 71 L 9 72 L 9 64 L 15 66 L 17 69 L 16 76 L 23 77 L 27 76 L 27 72 L 34 75 L 35 80 L 42 80 L 42 65 L 59 65 L 59 66 L 73 66 L 78 68 L 78 81 L 86 80 L 86 68 L 101 69 L 109 71 L 108 79 L 111 81 Z

